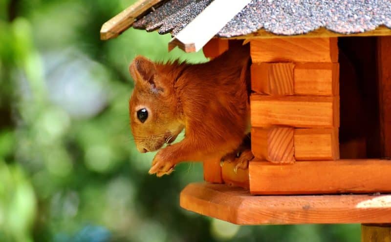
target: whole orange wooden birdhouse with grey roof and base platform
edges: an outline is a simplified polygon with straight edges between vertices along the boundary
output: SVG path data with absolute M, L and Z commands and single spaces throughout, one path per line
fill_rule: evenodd
M 391 4 L 345 3 L 143 0 L 105 23 L 102 39 L 170 32 L 169 49 L 209 58 L 250 44 L 255 159 L 237 172 L 204 161 L 183 208 L 237 224 L 391 223 Z

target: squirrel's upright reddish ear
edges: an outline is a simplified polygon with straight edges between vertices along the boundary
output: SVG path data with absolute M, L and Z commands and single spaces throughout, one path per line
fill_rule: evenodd
M 129 71 L 135 81 L 134 84 L 147 84 L 152 90 L 156 89 L 156 66 L 152 61 L 143 56 L 136 56 L 130 63 Z

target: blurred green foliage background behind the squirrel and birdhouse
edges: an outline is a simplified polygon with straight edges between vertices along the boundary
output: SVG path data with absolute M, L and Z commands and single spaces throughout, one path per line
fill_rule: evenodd
M 158 179 L 129 131 L 128 65 L 206 61 L 170 36 L 99 40 L 132 0 L 0 0 L 0 241 L 359 241 L 358 225 L 237 226 L 179 208 L 200 163 Z

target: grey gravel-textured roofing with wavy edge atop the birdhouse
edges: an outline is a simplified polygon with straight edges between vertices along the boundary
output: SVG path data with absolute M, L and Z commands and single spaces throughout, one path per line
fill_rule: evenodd
M 168 0 L 133 27 L 158 30 L 160 34 L 171 32 L 175 36 L 212 1 Z M 298 35 L 320 27 L 352 34 L 379 25 L 391 28 L 391 0 L 253 0 L 217 36 L 229 38 L 260 29 L 279 35 Z

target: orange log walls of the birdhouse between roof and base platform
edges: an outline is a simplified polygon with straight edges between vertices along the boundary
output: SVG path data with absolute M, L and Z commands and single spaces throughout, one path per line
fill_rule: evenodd
M 378 40 L 384 143 L 391 137 L 388 96 L 384 94 L 389 90 L 389 40 Z M 215 58 L 230 46 L 227 40 L 214 40 L 205 47 L 205 54 Z M 205 181 L 249 187 L 252 194 L 390 191 L 389 161 L 339 160 L 336 39 L 250 40 L 250 46 L 252 151 L 256 158 L 248 170 L 238 174 L 232 164 L 221 168 L 217 160 L 205 161 Z M 388 148 L 382 146 L 383 157 L 389 157 Z

